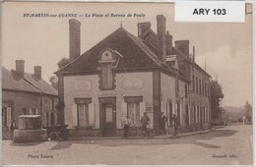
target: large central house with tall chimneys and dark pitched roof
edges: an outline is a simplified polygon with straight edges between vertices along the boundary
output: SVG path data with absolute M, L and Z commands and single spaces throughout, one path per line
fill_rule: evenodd
M 117 28 L 87 52 L 80 54 L 80 26 L 70 20 L 71 62 L 56 72 L 60 118 L 73 136 L 119 136 L 129 115 L 131 133 L 140 132 L 146 112 L 159 134 L 160 112 L 172 124 L 180 120 L 182 132 L 210 128 L 210 78 L 195 63 L 189 40 L 175 41 L 165 30 L 165 18 L 138 24 L 138 36 Z

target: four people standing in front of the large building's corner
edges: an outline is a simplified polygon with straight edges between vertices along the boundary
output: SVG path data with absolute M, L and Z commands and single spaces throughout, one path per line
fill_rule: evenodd
M 174 123 L 174 137 L 177 136 L 178 133 L 178 127 L 180 125 L 178 117 L 173 114 L 172 115 L 172 120 Z M 160 117 L 158 119 L 159 122 L 159 127 L 160 127 L 160 135 L 164 136 L 166 135 L 166 130 L 165 130 L 165 124 L 167 123 L 167 118 L 163 115 L 163 112 L 160 113 Z M 141 128 L 142 128 L 142 135 L 143 137 L 149 137 L 150 136 L 150 118 L 147 116 L 147 113 L 143 114 L 143 117 L 141 118 Z M 129 128 L 132 126 L 132 119 L 127 115 L 126 118 L 123 120 L 123 126 L 124 126 L 124 133 L 123 133 L 123 139 L 128 138 L 129 134 Z

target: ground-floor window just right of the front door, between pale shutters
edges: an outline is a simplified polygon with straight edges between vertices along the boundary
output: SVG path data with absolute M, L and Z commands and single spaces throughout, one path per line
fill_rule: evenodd
M 128 102 L 127 103 L 127 115 L 131 118 L 132 123 L 135 126 L 140 125 L 140 103 Z

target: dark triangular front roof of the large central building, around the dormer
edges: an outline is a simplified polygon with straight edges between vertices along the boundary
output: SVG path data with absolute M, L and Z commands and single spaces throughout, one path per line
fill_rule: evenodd
M 123 58 L 120 59 L 116 70 L 145 69 L 168 67 L 163 64 L 158 56 L 139 37 L 129 33 L 124 28 L 118 28 L 103 40 L 98 42 L 90 50 L 73 60 L 56 74 L 68 74 L 96 70 L 98 66 L 97 54 L 105 47 L 117 50 Z

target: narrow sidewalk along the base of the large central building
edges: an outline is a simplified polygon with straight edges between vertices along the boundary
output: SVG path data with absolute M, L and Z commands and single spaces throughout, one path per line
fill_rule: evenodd
M 213 127 L 212 129 L 205 130 L 205 131 L 197 131 L 193 133 L 184 133 L 178 134 L 177 137 L 187 137 L 187 136 L 195 136 L 200 134 L 209 133 L 211 131 L 215 131 L 217 129 L 224 128 L 224 126 Z M 150 139 L 172 139 L 174 138 L 173 135 L 166 135 L 166 136 L 155 136 L 154 138 Z M 122 139 L 122 137 L 80 137 L 80 138 L 70 138 L 70 140 L 83 140 L 83 139 Z M 143 139 L 142 137 L 129 137 L 128 139 Z

